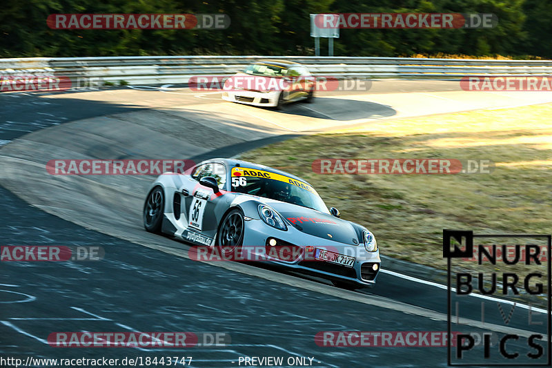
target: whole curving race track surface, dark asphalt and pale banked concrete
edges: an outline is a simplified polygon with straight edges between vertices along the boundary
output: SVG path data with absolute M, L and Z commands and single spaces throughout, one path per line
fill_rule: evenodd
M 429 80 L 374 81 L 368 91 L 319 93 L 314 104 L 282 112 L 182 86 L 3 93 L 0 244 L 99 245 L 106 255 L 97 262 L 1 262 L 0 354 L 191 356 L 193 367 L 238 367 L 240 356 L 314 357 L 313 367 L 446 367 L 442 347 L 319 347 L 314 338 L 319 331 L 446 331 L 441 285 L 386 271 L 385 264 L 376 287 L 353 292 L 267 267 L 196 262 L 187 244 L 144 231 L 141 208 L 152 177 L 56 176 L 46 172 L 46 162 L 199 161 L 380 119 L 393 124 L 397 117 L 551 101 L 550 93 L 464 92 L 457 81 Z M 529 334 L 526 309 L 515 309 L 508 327 L 498 314 L 483 326 L 480 304 L 491 310 L 495 301 L 468 298 L 460 322 L 470 331 Z M 533 310 L 533 319 L 544 314 Z M 231 343 L 62 349 L 46 342 L 54 331 L 223 332 Z M 515 342 L 509 347 L 527 349 Z

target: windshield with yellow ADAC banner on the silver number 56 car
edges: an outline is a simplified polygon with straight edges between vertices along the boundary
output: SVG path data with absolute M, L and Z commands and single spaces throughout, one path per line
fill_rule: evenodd
M 328 207 L 311 185 L 270 171 L 255 168 L 233 168 L 232 191 L 297 204 L 298 206 L 329 213 Z

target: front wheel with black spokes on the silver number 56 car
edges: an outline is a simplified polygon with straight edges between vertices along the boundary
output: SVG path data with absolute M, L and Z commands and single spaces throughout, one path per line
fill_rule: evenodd
M 217 249 L 227 258 L 235 255 L 244 244 L 245 220 L 239 209 L 233 209 L 224 216 L 217 232 Z

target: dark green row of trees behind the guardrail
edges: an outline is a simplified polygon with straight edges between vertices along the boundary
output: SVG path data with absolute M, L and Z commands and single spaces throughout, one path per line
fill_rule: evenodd
M 552 57 L 549 0 L 3 0 L 0 57 L 314 55 L 311 13 L 493 13 L 494 28 L 342 29 L 338 56 Z M 54 30 L 53 13 L 228 14 L 224 30 Z M 326 55 L 322 39 L 322 55 Z

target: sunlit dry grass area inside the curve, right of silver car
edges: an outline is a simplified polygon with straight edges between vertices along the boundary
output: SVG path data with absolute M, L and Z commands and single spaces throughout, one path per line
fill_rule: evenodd
M 442 229 L 552 229 L 552 104 L 380 120 L 242 155 L 311 182 L 342 218 L 375 233 L 382 254 L 446 269 Z M 320 158 L 490 159 L 489 174 L 320 175 Z M 492 267 L 487 267 L 487 271 Z M 476 262 L 466 269 L 478 269 Z

